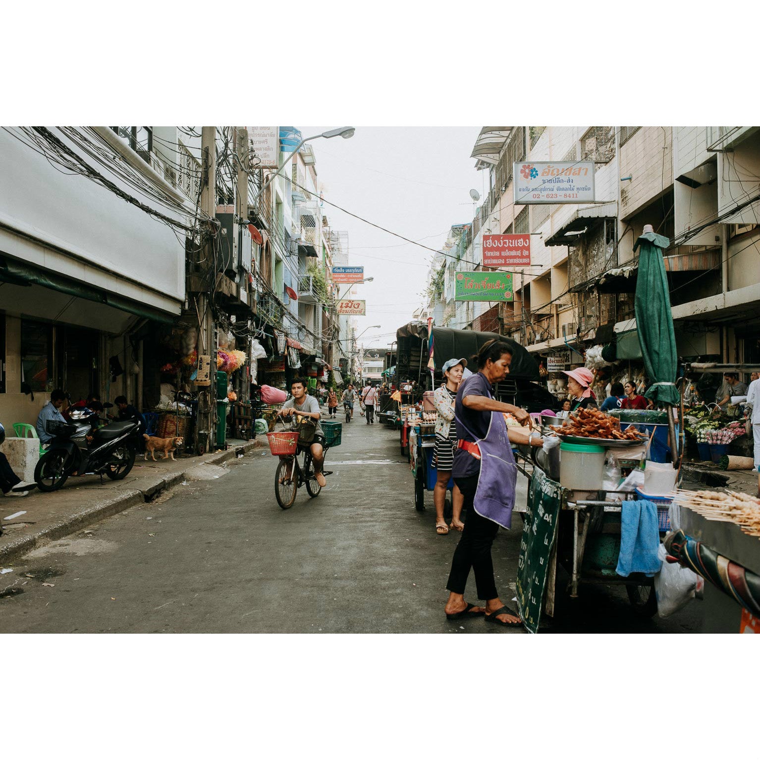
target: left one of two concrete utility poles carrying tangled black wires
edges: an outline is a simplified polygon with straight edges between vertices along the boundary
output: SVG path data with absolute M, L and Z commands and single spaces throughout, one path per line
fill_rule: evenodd
M 212 219 L 217 215 L 217 128 L 201 128 L 201 158 L 203 160 L 203 173 L 201 182 L 201 211 Z M 204 274 L 208 269 L 213 269 L 216 258 L 214 257 L 214 239 L 206 240 Z M 212 277 L 216 273 L 212 272 Z M 206 280 L 210 281 L 210 280 Z M 211 385 L 201 388 L 198 394 L 198 429 L 207 434 L 205 451 L 214 448 L 214 434 L 216 432 L 216 387 L 217 387 L 217 340 L 214 334 L 214 314 L 211 309 L 212 293 L 201 293 L 198 299 L 199 343 L 201 351 L 211 357 L 210 374 Z

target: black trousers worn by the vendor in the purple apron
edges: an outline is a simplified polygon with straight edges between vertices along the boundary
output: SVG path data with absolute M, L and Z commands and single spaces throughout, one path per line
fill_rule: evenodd
M 493 578 L 491 545 L 499 532 L 499 525 L 481 517 L 473 508 L 477 480 L 477 475 L 454 478 L 454 483 L 459 486 L 464 496 L 463 506 L 467 509 L 467 520 L 464 522 L 462 537 L 454 550 L 446 588 L 454 594 L 464 594 L 467 576 L 470 575 L 470 568 L 472 568 L 478 599 L 496 599 L 499 594 Z

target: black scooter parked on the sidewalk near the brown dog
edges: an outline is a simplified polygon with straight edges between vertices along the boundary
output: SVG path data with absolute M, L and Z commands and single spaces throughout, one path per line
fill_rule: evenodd
M 74 474 L 100 475 L 101 481 L 103 475 L 111 480 L 127 477 L 144 425 L 128 420 L 93 431 L 92 416 L 92 411 L 82 409 L 71 413 L 71 423 L 48 420 L 46 430 L 54 438 L 34 468 L 40 491 L 57 491 Z

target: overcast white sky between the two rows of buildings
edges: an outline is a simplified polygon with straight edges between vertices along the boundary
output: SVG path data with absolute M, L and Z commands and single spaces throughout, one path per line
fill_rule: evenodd
M 304 137 L 343 126 L 298 127 Z M 470 188 L 483 195 L 485 173 L 470 158 L 480 126 L 361 127 L 353 138 L 312 142 L 325 201 L 395 233 L 439 249 L 452 224 L 472 220 Z M 367 314 L 359 317 L 360 343 L 391 344 L 411 318 L 426 287 L 432 252 L 405 243 L 325 203 L 333 230 L 347 230 L 350 264 L 364 267 L 371 283 L 356 287 Z M 377 340 L 373 340 L 377 338 Z

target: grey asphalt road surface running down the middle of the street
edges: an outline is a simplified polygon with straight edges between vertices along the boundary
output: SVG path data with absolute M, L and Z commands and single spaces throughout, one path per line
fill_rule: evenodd
M 488 633 L 451 622 L 445 582 L 459 534 L 435 534 L 432 493 L 413 507 L 397 431 L 356 414 L 328 453 L 328 486 L 274 498 L 268 449 L 49 546 L 2 575 L 0 632 Z M 525 499 L 520 478 L 518 501 Z M 493 547 L 502 600 L 515 597 L 521 520 Z M 469 594 L 475 599 L 470 576 Z M 698 604 L 639 619 L 619 587 L 584 587 L 546 632 L 695 632 Z

